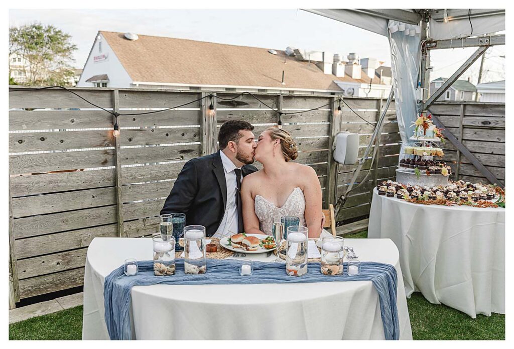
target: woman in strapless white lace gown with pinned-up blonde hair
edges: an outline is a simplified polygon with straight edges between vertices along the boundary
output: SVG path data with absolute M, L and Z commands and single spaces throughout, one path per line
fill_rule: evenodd
M 321 185 L 313 168 L 290 162 L 297 157 L 289 132 L 269 127 L 261 133 L 255 160 L 264 168 L 245 176 L 241 187 L 245 232 L 271 235 L 273 216 L 296 216 L 309 237 L 320 236 Z

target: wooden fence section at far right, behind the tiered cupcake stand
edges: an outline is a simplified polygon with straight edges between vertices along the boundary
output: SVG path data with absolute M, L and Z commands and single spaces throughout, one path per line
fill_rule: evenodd
M 505 184 L 505 103 L 443 102 L 430 107 L 451 132 L 479 159 L 498 180 Z M 446 142 L 445 160 L 452 161 L 453 179 L 470 182 L 489 181 L 461 152 Z

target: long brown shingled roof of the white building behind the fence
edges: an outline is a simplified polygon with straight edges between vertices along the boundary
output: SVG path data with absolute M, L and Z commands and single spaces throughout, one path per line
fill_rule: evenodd
M 203 41 L 138 35 L 127 40 L 123 33 L 100 31 L 135 82 L 187 85 L 258 86 L 336 90 L 334 82 L 369 83 L 350 76 L 326 75 L 314 63 L 289 57 L 282 50 L 216 44 Z M 282 84 L 282 71 L 284 82 Z M 362 74 L 362 77 L 366 77 Z M 379 79 L 373 79 L 379 83 Z

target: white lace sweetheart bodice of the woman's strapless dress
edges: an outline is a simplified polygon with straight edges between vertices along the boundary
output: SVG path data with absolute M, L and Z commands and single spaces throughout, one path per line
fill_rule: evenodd
M 277 207 L 261 195 L 255 195 L 255 214 L 259 218 L 260 230 L 271 235 L 273 216 L 294 216 L 300 218 L 300 225 L 305 226 L 305 196 L 297 187 L 292 190 L 282 207 Z

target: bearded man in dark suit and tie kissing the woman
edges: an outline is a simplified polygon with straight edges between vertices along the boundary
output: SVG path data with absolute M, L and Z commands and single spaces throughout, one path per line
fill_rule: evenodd
M 247 121 L 225 122 L 220 150 L 186 162 L 160 214 L 185 213 L 186 225 L 204 226 L 207 237 L 243 232 L 241 181 L 257 171 L 253 128 Z

